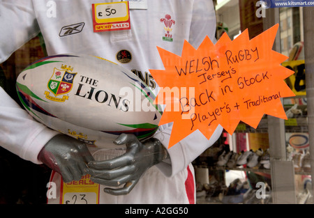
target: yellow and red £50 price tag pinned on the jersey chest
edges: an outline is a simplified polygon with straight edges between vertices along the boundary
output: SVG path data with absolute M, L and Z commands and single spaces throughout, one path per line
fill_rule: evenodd
M 93 3 L 94 32 L 130 29 L 128 1 Z

